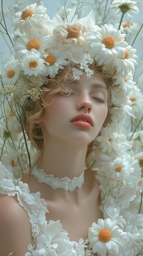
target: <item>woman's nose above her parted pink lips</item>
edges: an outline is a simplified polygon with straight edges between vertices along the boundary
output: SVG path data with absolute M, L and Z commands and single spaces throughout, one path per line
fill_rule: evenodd
M 92 103 L 89 99 L 89 96 L 87 94 L 86 95 L 80 95 L 80 96 L 81 96 L 80 100 L 77 103 L 77 109 L 78 110 L 83 109 L 85 112 L 90 113 L 91 110 L 92 110 Z

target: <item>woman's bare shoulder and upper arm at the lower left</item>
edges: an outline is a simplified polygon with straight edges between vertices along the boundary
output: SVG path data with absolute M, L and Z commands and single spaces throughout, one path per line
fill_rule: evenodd
M 20 206 L 17 195 L 0 195 L 0 255 L 24 256 L 32 244 L 29 216 Z

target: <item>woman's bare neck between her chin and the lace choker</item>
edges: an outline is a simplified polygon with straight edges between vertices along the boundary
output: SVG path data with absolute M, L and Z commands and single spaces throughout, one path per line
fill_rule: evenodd
M 54 177 L 79 177 L 84 170 L 87 145 L 69 144 L 48 138 L 42 148 L 42 156 L 37 162 L 37 168 Z

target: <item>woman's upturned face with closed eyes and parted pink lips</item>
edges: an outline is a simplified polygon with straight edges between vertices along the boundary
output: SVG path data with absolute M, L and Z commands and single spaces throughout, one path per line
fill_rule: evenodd
M 65 87 L 66 95 L 71 91 L 69 96 L 47 96 L 48 103 L 53 102 L 45 108 L 42 133 L 46 139 L 88 145 L 97 137 L 108 113 L 106 85 L 99 77 L 87 79 L 84 72 L 78 81 L 67 82 Z

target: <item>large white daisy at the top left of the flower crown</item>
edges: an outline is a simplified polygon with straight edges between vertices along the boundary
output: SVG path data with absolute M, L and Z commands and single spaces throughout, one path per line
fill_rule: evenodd
M 45 14 L 46 7 L 44 5 L 30 4 L 22 12 L 15 13 L 17 18 L 12 20 L 12 24 L 15 25 L 15 30 L 20 28 L 22 34 L 24 31 L 27 32 L 28 28 L 41 30 Z

